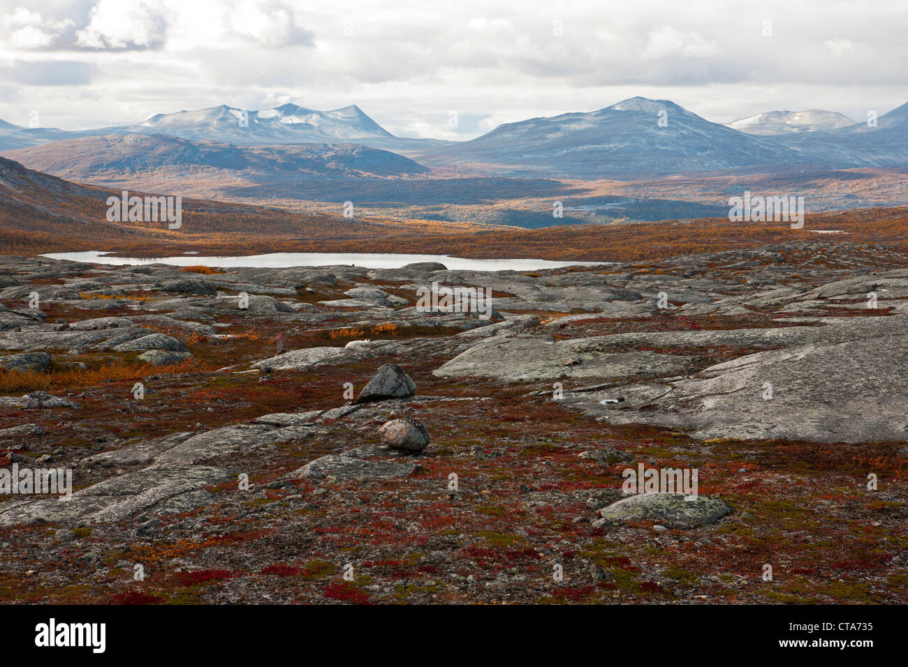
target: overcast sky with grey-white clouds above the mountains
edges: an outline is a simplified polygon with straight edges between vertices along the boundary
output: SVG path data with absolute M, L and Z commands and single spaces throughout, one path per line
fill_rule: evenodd
M 908 102 L 908 0 L 0 0 L 0 119 L 358 104 L 402 136 L 668 99 L 717 123 Z M 459 124 L 449 127 L 449 112 Z

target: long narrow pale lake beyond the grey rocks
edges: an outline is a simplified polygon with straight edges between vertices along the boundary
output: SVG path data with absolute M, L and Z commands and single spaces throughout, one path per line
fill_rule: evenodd
M 607 264 L 601 261 L 551 261 L 551 260 L 466 260 L 448 255 L 405 255 L 394 253 L 368 252 L 272 252 L 268 255 L 246 255 L 243 257 L 202 257 L 199 255 L 178 257 L 117 257 L 99 250 L 85 252 L 54 252 L 43 255 L 51 260 L 85 261 L 94 264 L 170 264 L 172 266 L 210 266 L 229 269 L 233 267 L 255 267 L 259 269 L 284 269 L 298 266 L 331 266 L 347 264 L 367 269 L 400 269 L 405 264 L 417 261 L 439 261 L 450 270 L 530 271 L 558 269 L 565 266 L 596 266 Z

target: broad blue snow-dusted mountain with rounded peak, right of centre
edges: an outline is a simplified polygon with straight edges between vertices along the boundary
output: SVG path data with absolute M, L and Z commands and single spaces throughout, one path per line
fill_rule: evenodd
M 667 100 L 632 97 L 589 113 L 508 123 L 418 158 L 511 175 L 607 178 L 795 162 L 784 146 L 710 123 Z

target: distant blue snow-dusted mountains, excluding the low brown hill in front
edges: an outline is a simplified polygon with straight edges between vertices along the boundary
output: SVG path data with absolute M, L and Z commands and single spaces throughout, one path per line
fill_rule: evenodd
M 81 132 L 0 123 L 0 151 L 85 136 L 157 134 L 241 147 L 355 143 L 428 166 L 577 179 L 772 165 L 908 166 L 908 104 L 884 113 L 875 126 L 843 126 L 849 122 L 842 114 L 810 110 L 762 113 L 733 127 L 667 100 L 632 97 L 594 112 L 507 123 L 469 142 L 445 142 L 395 137 L 357 106 L 321 112 L 296 104 L 258 111 L 221 105 Z

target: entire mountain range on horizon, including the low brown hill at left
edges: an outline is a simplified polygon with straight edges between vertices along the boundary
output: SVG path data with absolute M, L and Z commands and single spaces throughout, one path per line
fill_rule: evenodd
M 253 181 L 286 184 L 425 174 L 428 168 L 621 180 L 774 166 L 908 167 L 908 104 L 881 115 L 875 127 L 822 110 L 721 124 L 667 100 L 633 97 L 594 112 L 506 123 L 468 142 L 395 137 L 355 105 L 329 112 L 295 104 L 259 111 L 221 105 L 80 132 L 0 122 L 0 148 L 28 167 L 95 182 L 162 170 L 168 178 L 242 172 Z

